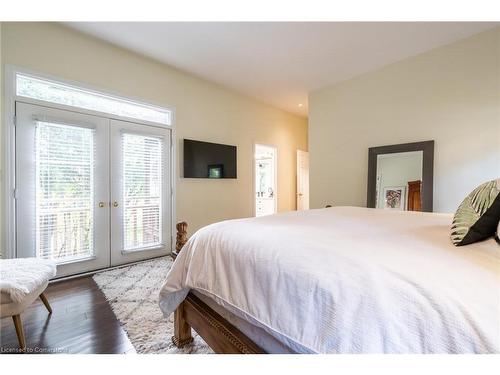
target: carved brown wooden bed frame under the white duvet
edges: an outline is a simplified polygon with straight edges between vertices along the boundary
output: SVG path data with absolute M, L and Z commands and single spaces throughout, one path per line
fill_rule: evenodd
M 177 224 L 177 253 L 187 241 L 187 223 Z M 174 258 L 177 256 L 174 253 Z M 183 347 L 193 341 L 191 329 L 194 329 L 216 352 L 223 354 L 261 354 L 265 353 L 258 345 L 240 330 L 214 311 L 193 293 L 174 312 L 173 343 Z

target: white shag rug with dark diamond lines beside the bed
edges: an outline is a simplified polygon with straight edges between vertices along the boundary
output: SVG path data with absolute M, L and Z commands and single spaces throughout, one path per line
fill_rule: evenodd
M 93 278 L 137 353 L 213 353 L 194 330 L 191 344 L 179 349 L 172 343 L 174 314 L 166 319 L 158 306 L 158 294 L 172 263 L 167 256 L 100 272 Z

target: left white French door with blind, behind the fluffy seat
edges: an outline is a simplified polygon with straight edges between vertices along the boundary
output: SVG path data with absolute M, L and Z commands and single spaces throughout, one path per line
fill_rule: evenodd
M 16 253 L 109 266 L 109 120 L 16 103 Z

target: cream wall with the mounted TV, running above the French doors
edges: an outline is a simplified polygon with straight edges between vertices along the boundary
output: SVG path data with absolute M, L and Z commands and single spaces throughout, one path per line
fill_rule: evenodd
M 173 107 L 178 146 L 183 138 L 238 146 L 238 179 L 177 178 L 177 220 L 190 232 L 253 214 L 254 142 L 278 148 L 278 209 L 295 209 L 295 155 L 307 149 L 307 119 L 56 24 L 4 23 L 2 47 L 4 64 Z

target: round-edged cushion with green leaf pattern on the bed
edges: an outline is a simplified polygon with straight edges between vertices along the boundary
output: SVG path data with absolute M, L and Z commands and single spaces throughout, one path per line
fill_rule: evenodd
M 458 206 L 451 226 L 455 246 L 468 245 L 495 234 L 500 220 L 500 179 L 475 188 Z

